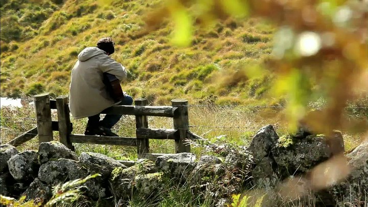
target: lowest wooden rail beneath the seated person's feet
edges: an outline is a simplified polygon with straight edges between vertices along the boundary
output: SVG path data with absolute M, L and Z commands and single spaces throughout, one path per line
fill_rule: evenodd
M 136 139 L 132 137 L 70 134 L 69 138 L 72 143 L 89 143 L 99 145 L 121 145 L 121 146 L 136 147 Z

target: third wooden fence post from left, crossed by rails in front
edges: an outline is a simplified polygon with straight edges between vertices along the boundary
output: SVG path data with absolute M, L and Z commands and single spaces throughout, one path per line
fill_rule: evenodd
M 147 99 L 138 98 L 138 99 L 134 100 L 134 105 L 135 106 L 145 106 L 145 105 L 147 105 Z M 137 129 L 148 128 L 147 116 L 135 116 L 135 127 Z M 136 137 L 139 137 L 139 134 L 137 132 L 135 132 L 135 134 L 136 134 Z M 137 138 L 136 142 L 137 142 L 137 153 L 138 153 L 138 155 L 143 154 L 143 153 L 148 153 L 148 151 L 149 151 L 149 142 L 148 142 L 147 138 L 145 138 L 145 139 Z

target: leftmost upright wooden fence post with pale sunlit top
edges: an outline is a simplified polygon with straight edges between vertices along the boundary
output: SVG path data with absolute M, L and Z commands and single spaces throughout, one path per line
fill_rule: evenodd
M 51 108 L 49 94 L 40 94 L 33 97 L 36 108 L 38 142 L 53 141 Z

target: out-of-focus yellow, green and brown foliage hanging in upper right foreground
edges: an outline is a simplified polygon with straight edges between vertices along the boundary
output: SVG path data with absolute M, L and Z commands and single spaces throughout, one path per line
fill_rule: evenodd
M 171 0 L 146 22 L 155 29 L 169 17 L 175 24 L 173 42 L 187 46 L 194 27 L 244 16 L 263 17 L 279 27 L 267 67 L 277 75 L 272 96 L 287 96 L 290 129 L 298 122 L 324 133 L 349 127 L 344 107 L 368 91 L 367 2 Z M 254 39 L 247 36 L 245 41 Z M 319 97 L 326 99 L 326 107 L 308 113 L 308 103 Z

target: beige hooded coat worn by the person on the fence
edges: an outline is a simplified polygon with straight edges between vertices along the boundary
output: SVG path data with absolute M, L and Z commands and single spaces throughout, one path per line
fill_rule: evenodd
M 120 81 L 127 75 L 123 65 L 103 50 L 90 47 L 79 53 L 69 87 L 69 108 L 74 119 L 94 116 L 116 104 L 109 98 L 102 82 L 105 72 L 115 75 Z

